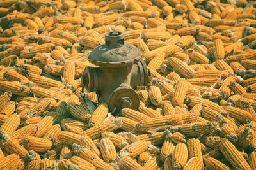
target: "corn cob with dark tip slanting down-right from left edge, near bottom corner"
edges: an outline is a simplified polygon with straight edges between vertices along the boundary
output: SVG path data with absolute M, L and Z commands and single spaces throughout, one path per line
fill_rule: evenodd
M 28 152 L 25 148 L 19 145 L 17 141 L 10 138 L 8 134 L 3 131 L 0 131 L 1 136 L 1 145 L 4 147 L 8 153 L 15 153 L 19 155 L 20 158 L 25 159 L 26 153 Z

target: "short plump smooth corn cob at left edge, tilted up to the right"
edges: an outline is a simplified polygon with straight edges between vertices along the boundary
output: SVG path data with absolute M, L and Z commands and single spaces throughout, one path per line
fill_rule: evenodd
M 16 131 L 17 127 L 20 125 L 20 117 L 16 114 L 10 115 L 4 123 L 0 127 L 0 131 L 5 132 L 6 134 L 10 135 Z

